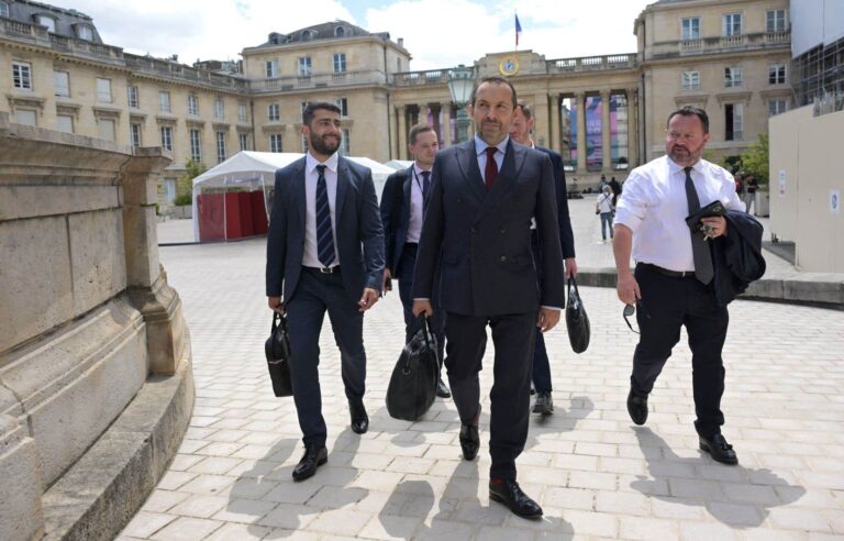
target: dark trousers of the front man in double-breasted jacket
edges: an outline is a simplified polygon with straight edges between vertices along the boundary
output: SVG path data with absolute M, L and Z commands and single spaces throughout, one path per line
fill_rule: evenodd
M 487 324 L 492 329 L 496 360 L 489 394 L 490 477 L 515 479 L 515 459 L 528 439 L 536 317 L 536 312 L 492 317 L 447 312 L 445 319 L 445 367 L 464 424 L 473 423 L 478 413 L 478 373 L 487 347 Z

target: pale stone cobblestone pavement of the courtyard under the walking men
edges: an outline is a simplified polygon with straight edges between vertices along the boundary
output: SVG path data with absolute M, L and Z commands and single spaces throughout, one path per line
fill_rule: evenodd
M 610 265 L 611 256 L 598 261 L 611 249 L 596 244 L 591 205 L 576 205 L 580 265 Z M 292 483 L 301 435 L 292 400 L 273 396 L 266 373 L 264 249 L 249 240 L 160 250 L 190 327 L 197 402 L 179 454 L 120 539 L 844 539 L 841 312 L 731 305 L 724 433 L 741 465 L 724 466 L 697 449 L 685 334 L 647 424 L 635 427 L 624 401 L 636 336 L 614 290 L 581 288 L 591 344 L 575 355 L 563 328 L 547 335 L 556 411 L 532 419 L 518 462 L 520 483 L 545 509 L 529 521 L 489 501 L 488 417 L 479 459 L 465 462 L 451 400 L 437 399 L 421 422 L 387 415 L 403 336 L 396 294 L 365 320 L 371 421 L 362 437 L 348 428 L 326 319 L 329 463 Z

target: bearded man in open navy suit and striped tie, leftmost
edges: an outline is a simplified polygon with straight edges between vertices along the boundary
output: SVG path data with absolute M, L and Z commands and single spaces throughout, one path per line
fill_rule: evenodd
M 327 461 L 320 394 L 320 330 L 329 312 L 340 347 L 352 430 L 366 432 L 364 312 L 378 301 L 384 235 L 371 172 L 337 155 L 340 109 L 309 103 L 304 157 L 276 172 L 267 236 L 267 301 L 288 314 L 290 376 L 304 455 L 293 479 Z

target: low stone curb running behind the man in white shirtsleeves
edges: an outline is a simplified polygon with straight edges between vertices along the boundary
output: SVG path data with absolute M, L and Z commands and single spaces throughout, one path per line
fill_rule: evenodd
M 615 268 L 579 268 L 577 284 L 615 287 Z M 773 273 L 752 283 L 738 298 L 844 310 L 844 274 Z

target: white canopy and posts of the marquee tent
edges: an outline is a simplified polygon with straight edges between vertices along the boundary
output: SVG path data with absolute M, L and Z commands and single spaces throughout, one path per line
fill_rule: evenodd
M 234 156 L 230 157 L 225 162 L 215 167 L 207 170 L 202 175 L 193 179 L 193 238 L 200 240 L 200 219 L 202 209 L 199 208 L 199 196 L 204 194 L 220 194 L 230 190 L 246 190 L 258 191 L 263 190 L 264 200 L 269 201 L 270 191 L 275 183 L 276 170 L 285 167 L 286 165 L 299 159 L 303 154 L 300 153 L 274 153 L 274 152 L 238 152 Z M 384 183 L 387 177 L 395 173 L 395 169 L 387 167 L 374 159 L 367 157 L 347 156 L 348 159 L 356 162 L 365 167 L 369 167 L 373 172 L 373 180 L 375 181 L 375 191 L 380 199 L 381 190 L 384 189 Z M 226 212 L 225 205 L 227 198 L 222 198 L 222 212 L 220 219 L 223 220 L 222 232 L 225 239 L 227 239 L 227 230 L 225 227 Z M 265 212 L 269 214 L 265 206 Z M 209 219 L 209 217 L 206 217 Z

